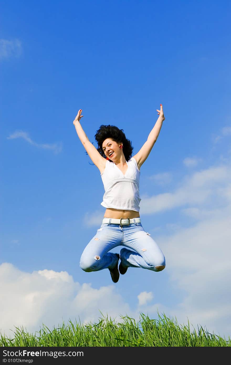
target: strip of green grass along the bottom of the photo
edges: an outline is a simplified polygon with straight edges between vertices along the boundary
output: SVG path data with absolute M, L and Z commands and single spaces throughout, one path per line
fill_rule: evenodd
M 104 317 L 98 323 L 75 325 L 69 324 L 49 330 L 45 324 L 35 334 L 24 332 L 23 327 L 13 331 L 14 338 L 8 338 L 0 333 L 0 346 L 231 346 L 231 339 L 222 338 L 214 333 L 209 333 L 202 327 L 197 331 L 188 325 L 179 325 L 177 320 L 162 317 L 158 319 L 140 314 L 140 320 L 128 316 L 121 317 L 121 322 Z M 37 335 L 36 335 L 37 334 Z

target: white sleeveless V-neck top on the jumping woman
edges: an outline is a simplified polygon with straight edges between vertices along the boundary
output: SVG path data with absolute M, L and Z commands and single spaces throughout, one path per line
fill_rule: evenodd
M 139 212 L 139 176 L 135 158 L 126 161 L 128 168 L 125 175 L 114 164 L 107 160 L 105 170 L 101 174 L 105 194 L 101 205 L 105 208 L 134 210 Z

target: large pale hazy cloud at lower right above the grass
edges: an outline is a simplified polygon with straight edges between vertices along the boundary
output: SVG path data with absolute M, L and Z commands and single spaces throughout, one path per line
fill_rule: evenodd
M 216 205 L 216 204 L 214 204 Z M 195 214 L 200 214 L 195 210 Z M 213 214 L 200 215 L 201 221 L 171 235 L 156 237 L 166 258 L 168 273 L 176 291 L 185 292 L 181 303 L 163 308 L 186 322 L 206 324 L 216 334 L 231 335 L 230 257 L 231 204 Z M 166 269 L 165 269 L 166 270 Z M 221 300 L 222 299 L 222 300 Z

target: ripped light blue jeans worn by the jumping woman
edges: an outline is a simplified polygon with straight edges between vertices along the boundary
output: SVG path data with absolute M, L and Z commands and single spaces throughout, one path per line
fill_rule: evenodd
M 80 258 L 81 269 L 86 272 L 113 269 L 118 257 L 108 251 L 117 246 L 128 247 L 120 250 L 120 260 L 125 267 L 160 271 L 159 266 L 163 266 L 161 270 L 165 266 L 161 249 L 141 223 L 122 227 L 120 224 L 104 223 L 85 247 Z

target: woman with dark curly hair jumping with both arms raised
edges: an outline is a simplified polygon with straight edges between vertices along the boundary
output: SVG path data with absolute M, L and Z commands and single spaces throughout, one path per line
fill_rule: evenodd
M 86 152 L 100 170 L 105 189 L 101 205 L 106 208 L 100 228 L 81 255 L 80 267 L 86 272 L 108 268 L 114 283 L 119 280 L 119 273 L 125 274 L 129 267 L 156 272 L 165 268 L 165 257 L 144 230 L 139 215 L 140 167 L 157 141 L 165 120 L 161 104 L 157 112 L 159 117 L 155 126 L 133 157 L 131 141 L 126 138 L 123 129 L 101 125 L 95 134 L 96 149 L 81 127 L 81 109 L 73 121 Z M 124 246 L 120 254 L 109 252 L 117 246 Z

